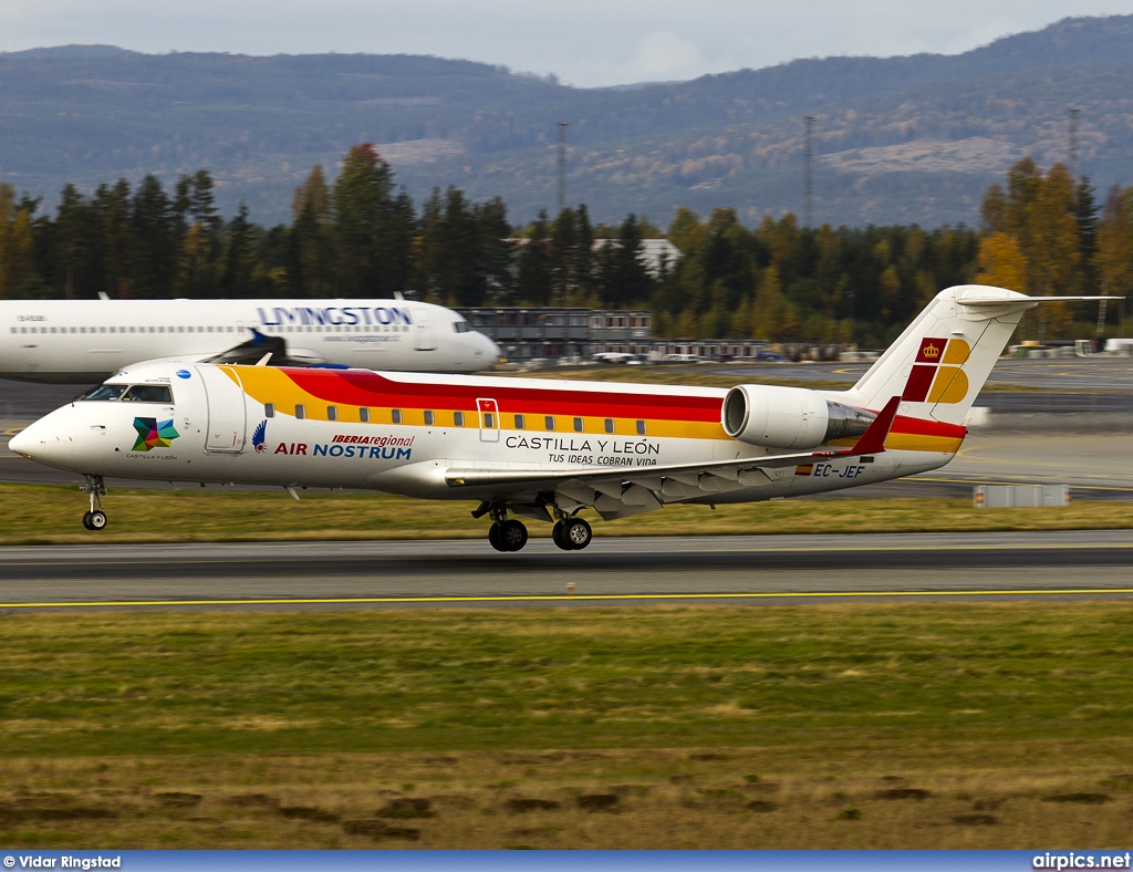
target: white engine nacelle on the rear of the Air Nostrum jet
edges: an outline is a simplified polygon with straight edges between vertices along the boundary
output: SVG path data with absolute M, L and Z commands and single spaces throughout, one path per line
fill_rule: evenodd
M 817 448 L 861 436 L 876 417 L 802 387 L 736 385 L 724 397 L 722 424 L 733 439 L 751 445 Z

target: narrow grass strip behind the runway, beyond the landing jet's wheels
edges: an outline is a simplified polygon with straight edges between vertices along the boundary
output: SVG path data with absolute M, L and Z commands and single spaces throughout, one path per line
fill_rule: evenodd
M 0 485 L 6 510 L 0 545 L 68 542 L 256 541 L 276 539 L 480 538 L 474 503 L 441 503 L 358 493 L 278 493 L 113 488 L 110 524 L 80 523 L 86 497 L 76 488 Z M 690 532 L 923 532 L 953 530 L 1072 530 L 1133 527 L 1133 503 L 1087 502 L 1059 508 L 978 510 L 966 499 L 792 499 L 746 505 L 668 506 L 605 522 L 593 513 L 596 536 L 675 536 Z M 533 536 L 550 524 L 531 522 Z

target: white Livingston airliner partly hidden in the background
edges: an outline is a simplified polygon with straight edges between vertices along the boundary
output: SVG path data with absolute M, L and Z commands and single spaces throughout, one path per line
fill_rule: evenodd
M 156 359 L 475 373 L 500 349 L 410 300 L 3 300 L 0 378 L 101 382 Z

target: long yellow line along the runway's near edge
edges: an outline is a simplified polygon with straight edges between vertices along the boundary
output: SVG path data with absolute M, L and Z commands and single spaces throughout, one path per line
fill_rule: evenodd
M 1036 597 L 1133 595 L 1133 588 L 1065 588 L 1056 590 L 851 590 L 761 591 L 758 593 L 518 593 L 480 597 L 326 597 L 303 599 L 138 599 L 76 602 L 0 602 L 0 608 L 111 608 L 139 606 L 349 606 L 428 602 L 571 602 L 631 599 L 836 599 L 851 597 Z

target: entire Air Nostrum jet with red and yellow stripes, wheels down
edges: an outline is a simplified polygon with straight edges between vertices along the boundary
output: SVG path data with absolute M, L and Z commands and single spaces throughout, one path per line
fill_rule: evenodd
M 527 542 L 517 515 L 573 550 L 591 538 L 583 507 L 608 520 L 943 467 L 1023 311 L 1054 299 L 1097 298 L 949 288 L 849 391 L 151 364 L 9 447 L 86 477 L 88 529 L 107 523 L 103 477 L 121 476 L 468 499 L 499 550 Z

